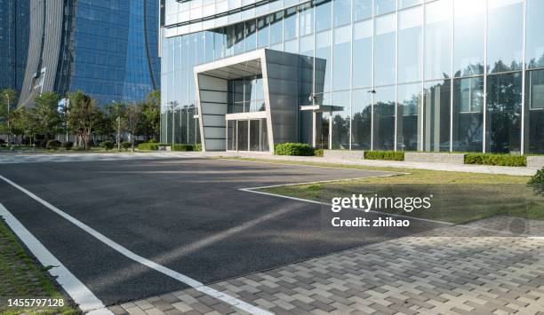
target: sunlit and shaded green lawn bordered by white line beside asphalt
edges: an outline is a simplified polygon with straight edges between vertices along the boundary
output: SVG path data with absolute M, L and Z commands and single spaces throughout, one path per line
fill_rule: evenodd
M 413 210 L 410 213 L 402 210 L 388 210 L 388 212 L 454 224 L 468 223 L 498 215 L 544 220 L 544 196 L 535 194 L 526 185 L 529 177 L 425 169 L 372 168 L 296 161 L 242 160 L 409 173 L 399 174 L 395 177 L 371 177 L 263 189 L 268 193 L 329 203 L 333 197 L 350 197 L 352 194 L 363 194 L 364 196 L 378 194 L 386 197 L 419 197 L 432 194 L 431 209 Z

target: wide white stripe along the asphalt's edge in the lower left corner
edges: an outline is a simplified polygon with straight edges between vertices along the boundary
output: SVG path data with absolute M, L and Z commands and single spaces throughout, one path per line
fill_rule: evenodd
M 4 217 L 5 223 L 12 229 L 12 231 L 19 237 L 19 239 L 30 250 L 32 255 L 36 256 L 41 264 L 44 266 L 52 266 L 49 269 L 49 273 L 52 277 L 56 278 L 60 286 L 72 297 L 74 302 L 79 305 L 82 311 L 96 311 L 100 314 L 113 314 L 111 311 L 105 308 L 104 303 L 100 301 L 98 297 L 92 294 L 91 290 L 72 274 L 68 269 L 60 263 L 57 257 L 44 247 L 39 240 L 32 235 L 31 232 L 20 223 L 17 218 L 5 209 L 4 205 L 0 203 L 0 217 Z

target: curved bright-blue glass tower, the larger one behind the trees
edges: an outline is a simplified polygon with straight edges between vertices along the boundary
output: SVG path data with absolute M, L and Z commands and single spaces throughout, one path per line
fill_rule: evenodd
M 132 103 L 160 88 L 159 0 L 30 0 L 20 106 L 43 91 Z

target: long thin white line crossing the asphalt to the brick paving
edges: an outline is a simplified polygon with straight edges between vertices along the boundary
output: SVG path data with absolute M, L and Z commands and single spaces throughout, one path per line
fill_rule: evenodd
M 150 261 L 149 259 L 147 259 L 145 257 L 139 256 L 139 255 L 133 253 L 131 250 L 129 250 L 127 248 L 124 248 L 123 246 L 116 243 L 115 241 L 108 239 L 108 237 L 106 237 L 102 233 L 94 230 L 89 225 L 84 224 L 83 222 L 77 220 L 75 217 L 72 217 L 72 216 L 68 215 L 68 213 L 66 213 L 66 212 L 58 209 L 57 207 L 53 206 L 51 203 L 49 203 L 47 201 L 44 201 L 40 197 L 36 196 L 36 194 L 29 192 L 26 188 L 13 183 L 11 180 L 9 180 L 6 177 L 3 177 L 2 175 L 0 175 L 0 178 L 3 179 L 6 183 L 8 183 L 8 184 L 12 185 L 13 187 L 19 189 L 21 192 L 28 194 L 28 196 L 30 198 L 32 198 L 35 201 L 38 201 L 39 203 L 43 204 L 44 207 L 46 207 L 47 209 L 52 210 L 54 213 L 58 214 L 60 217 L 64 217 L 69 222 L 71 222 L 73 224 L 76 224 L 76 226 L 78 226 L 79 228 L 81 228 L 85 232 L 88 232 L 89 234 L 91 234 L 96 239 L 98 239 L 101 242 L 103 242 L 104 244 L 108 245 L 110 248 L 114 248 L 116 251 L 123 254 L 124 256 L 127 256 L 128 258 L 132 259 L 135 262 L 140 263 L 140 264 L 144 264 L 144 265 L 148 266 L 149 268 L 156 270 L 157 272 L 161 272 L 161 273 L 163 273 L 163 274 L 165 274 L 165 275 L 167 275 L 167 276 L 169 276 L 169 277 L 171 277 L 171 278 L 173 278 L 175 280 L 183 282 L 183 283 L 187 284 L 189 287 L 195 288 L 197 291 L 200 291 L 200 292 L 202 292 L 202 293 L 204 293 L 206 295 L 210 295 L 210 296 L 212 296 L 212 297 L 214 297 L 214 298 L 216 298 L 216 299 L 218 299 L 220 301 L 223 301 L 225 303 L 228 303 L 228 304 L 230 304 L 230 305 L 232 305 L 232 306 L 234 306 L 234 307 L 236 307 L 236 308 L 238 308 L 238 309 L 240 309 L 242 311 L 247 311 L 247 312 L 252 313 L 252 314 L 272 314 L 269 311 L 265 311 L 263 309 L 260 309 L 259 307 L 253 306 L 250 303 L 245 303 L 244 301 L 241 301 L 241 300 L 239 300 L 239 299 L 237 299 L 237 298 L 235 298 L 233 296 L 224 294 L 224 293 L 222 293 L 222 292 L 220 292 L 220 291 L 218 291 L 218 290 L 216 290 L 216 289 L 214 289 L 212 287 L 206 287 L 206 286 L 204 286 L 203 283 L 201 283 L 201 282 L 199 282 L 197 280 L 194 280 L 192 278 L 189 278 L 188 276 L 185 276 L 185 275 L 181 274 L 180 272 L 175 272 L 172 269 L 164 267 L 161 264 L 156 264 L 155 262 Z

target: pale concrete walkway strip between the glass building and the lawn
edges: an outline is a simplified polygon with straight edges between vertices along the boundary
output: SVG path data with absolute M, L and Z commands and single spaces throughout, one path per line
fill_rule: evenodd
M 327 158 L 315 156 L 285 156 L 274 155 L 268 153 L 243 153 L 243 152 L 207 152 L 207 153 L 165 153 L 172 155 L 193 154 L 195 156 L 212 156 L 212 157 L 242 157 L 262 160 L 276 161 L 308 161 L 316 163 L 333 163 L 343 165 L 363 165 L 370 167 L 385 167 L 385 168 L 400 168 L 400 169 L 432 169 L 466 173 L 482 173 L 482 174 L 503 174 L 512 176 L 532 176 L 537 169 L 524 167 L 509 167 L 509 166 L 487 166 L 487 165 L 464 165 L 464 164 L 446 164 L 446 163 L 428 163 L 416 161 L 380 161 L 380 160 L 356 160 L 346 158 Z

